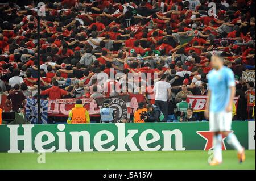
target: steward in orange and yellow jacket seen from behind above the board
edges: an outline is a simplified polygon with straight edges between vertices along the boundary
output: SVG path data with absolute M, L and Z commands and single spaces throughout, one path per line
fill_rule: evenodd
M 76 100 L 75 107 L 69 112 L 67 123 L 90 123 L 89 112 L 82 106 L 82 100 Z

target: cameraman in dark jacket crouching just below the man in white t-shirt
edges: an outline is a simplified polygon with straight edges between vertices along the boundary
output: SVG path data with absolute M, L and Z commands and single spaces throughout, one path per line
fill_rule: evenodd
M 146 106 L 148 110 L 148 116 L 145 117 L 145 122 L 164 122 L 166 119 L 159 107 L 151 104 Z

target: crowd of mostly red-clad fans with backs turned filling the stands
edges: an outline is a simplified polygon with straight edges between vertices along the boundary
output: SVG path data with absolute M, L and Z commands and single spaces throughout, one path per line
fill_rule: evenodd
M 42 2 L 46 15 L 40 23 L 37 1 L 0 3 L 0 91 L 8 94 L 8 100 L 19 90 L 24 96 L 19 94 L 12 102 L 20 100 L 23 105 L 27 97 L 36 98 L 40 69 L 42 98 L 97 98 L 132 92 L 144 94 L 147 103 L 156 102 L 168 119 L 181 107 L 189 108 L 187 95 L 207 95 L 210 58 L 217 55 L 236 78 L 236 95 L 240 96 L 236 119 L 246 119 L 246 92 L 255 91 L 255 85 L 242 81 L 242 71 L 255 70 L 254 1 Z M 216 9 L 208 7 L 210 2 Z M 101 73 L 109 77 L 97 79 Z M 151 83 L 144 86 L 139 78 L 129 90 L 129 73 L 147 75 L 146 81 Z M 154 81 L 167 85 L 159 83 L 156 88 Z M 110 85 L 119 90 L 110 90 Z M 153 87 L 171 88 L 170 97 L 152 99 Z M 193 114 L 192 109 L 188 112 Z M 197 113 L 197 119 L 203 120 L 203 113 Z

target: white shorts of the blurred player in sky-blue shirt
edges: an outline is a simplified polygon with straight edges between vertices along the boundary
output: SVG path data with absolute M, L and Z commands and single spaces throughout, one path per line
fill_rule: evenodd
M 210 112 L 209 128 L 212 132 L 230 131 L 232 123 L 232 112 Z

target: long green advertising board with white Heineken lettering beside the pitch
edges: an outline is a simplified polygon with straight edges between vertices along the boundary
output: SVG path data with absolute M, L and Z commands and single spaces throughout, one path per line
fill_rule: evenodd
M 234 121 L 232 132 L 246 149 L 255 149 L 255 121 Z M 0 125 L 0 152 L 210 149 L 207 122 Z M 222 149 L 231 149 L 225 137 Z

